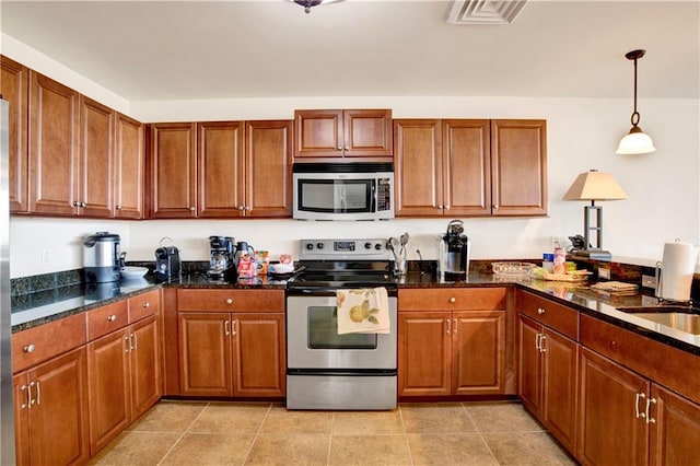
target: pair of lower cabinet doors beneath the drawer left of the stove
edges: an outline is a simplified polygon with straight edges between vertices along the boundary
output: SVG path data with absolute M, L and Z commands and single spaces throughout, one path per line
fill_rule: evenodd
M 282 397 L 284 314 L 178 313 L 183 396 Z

